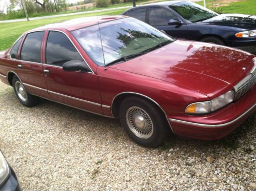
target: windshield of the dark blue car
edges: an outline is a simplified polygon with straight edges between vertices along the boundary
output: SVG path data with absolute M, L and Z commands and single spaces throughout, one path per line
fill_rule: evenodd
M 192 23 L 200 22 L 218 15 L 217 13 L 192 2 L 176 3 L 170 5 L 170 8 Z

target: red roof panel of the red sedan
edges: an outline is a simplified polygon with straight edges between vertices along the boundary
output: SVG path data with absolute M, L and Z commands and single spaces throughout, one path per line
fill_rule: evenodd
M 38 27 L 38 28 L 27 31 L 26 33 L 38 31 L 38 30 L 47 30 L 47 29 L 53 29 L 53 30 L 66 29 L 68 31 L 73 31 L 76 29 L 81 29 L 84 27 L 96 25 L 98 23 L 105 23 L 105 22 L 109 22 L 110 20 L 115 20 L 115 19 L 120 19 L 125 17 L 127 16 L 114 15 L 114 16 L 88 16 L 88 17 L 82 17 L 82 18 L 74 18 L 74 19 L 66 20 L 64 22 L 53 23 L 53 24 L 45 25 L 43 27 Z

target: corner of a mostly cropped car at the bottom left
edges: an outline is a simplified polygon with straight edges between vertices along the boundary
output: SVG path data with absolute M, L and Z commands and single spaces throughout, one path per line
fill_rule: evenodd
M 6 162 L 0 151 L 0 191 L 20 190 L 18 181 L 13 169 Z

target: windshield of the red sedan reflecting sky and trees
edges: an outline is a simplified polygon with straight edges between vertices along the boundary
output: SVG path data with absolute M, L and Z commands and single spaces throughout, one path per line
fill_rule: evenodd
M 108 65 L 114 60 L 174 40 L 140 20 L 130 17 L 78 29 L 72 31 L 72 34 L 98 66 Z

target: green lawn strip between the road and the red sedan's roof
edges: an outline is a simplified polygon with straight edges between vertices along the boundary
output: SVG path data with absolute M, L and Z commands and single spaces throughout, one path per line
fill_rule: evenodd
M 88 13 L 81 15 L 70 15 L 56 18 L 46 18 L 40 20 L 30 20 L 29 22 L 15 22 L 15 23 L 1 23 L 0 24 L 0 50 L 8 49 L 12 43 L 24 32 L 44 26 L 51 23 L 62 22 L 64 20 L 85 17 L 85 16 L 96 16 L 96 15 L 119 15 L 126 9 L 120 9 L 115 11 L 104 11 L 99 13 Z

